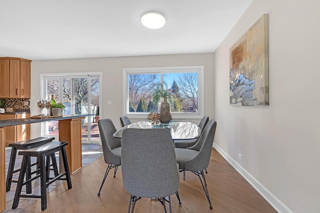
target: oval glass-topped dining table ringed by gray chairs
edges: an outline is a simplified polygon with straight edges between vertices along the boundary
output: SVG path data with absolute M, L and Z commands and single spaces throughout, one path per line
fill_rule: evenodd
M 170 131 L 173 140 L 187 140 L 187 139 L 195 139 L 200 137 L 201 129 L 198 125 L 190 122 L 190 121 L 182 121 L 182 120 L 171 120 L 168 124 L 161 123 L 153 123 L 149 120 L 138 121 L 135 123 L 131 123 L 127 126 L 122 127 L 117 130 L 113 137 L 122 138 L 122 132 L 126 128 L 134 128 L 134 129 L 154 129 L 154 128 L 163 128 Z

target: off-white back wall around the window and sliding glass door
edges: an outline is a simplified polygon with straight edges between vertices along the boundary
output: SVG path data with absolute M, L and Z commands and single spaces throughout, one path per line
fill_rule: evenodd
M 31 62 L 31 115 L 39 113 L 36 107 L 40 99 L 39 74 L 42 73 L 87 73 L 102 72 L 100 89 L 102 89 L 102 118 L 110 118 L 115 127 L 120 128 L 122 115 L 122 69 L 165 66 L 204 67 L 204 114 L 213 118 L 213 53 L 158 55 L 137 57 L 87 58 L 68 60 L 37 60 Z M 34 96 L 34 99 L 32 99 Z M 111 100 L 112 105 L 106 105 Z M 146 118 L 145 118 L 146 119 Z M 174 119 L 174 117 L 173 117 Z M 134 121 L 134 120 L 132 120 Z M 199 123 L 199 119 L 191 120 Z M 39 135 L 38 125 L 32 124 L 31 137 Z

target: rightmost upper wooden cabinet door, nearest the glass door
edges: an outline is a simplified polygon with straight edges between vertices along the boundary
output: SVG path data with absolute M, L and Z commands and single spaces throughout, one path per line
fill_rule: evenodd
M 20 98 L 30 98 L 30 62 L 20 61 Z

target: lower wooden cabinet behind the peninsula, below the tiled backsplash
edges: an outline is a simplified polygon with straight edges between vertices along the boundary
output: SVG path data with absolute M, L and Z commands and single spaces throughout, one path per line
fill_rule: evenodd
M 29 118 L 30 113 L 23 114 L 0 114 L 0 120 Z M 30 124 L 4 127 L 5 129 L 5 146 L 30 139 Z

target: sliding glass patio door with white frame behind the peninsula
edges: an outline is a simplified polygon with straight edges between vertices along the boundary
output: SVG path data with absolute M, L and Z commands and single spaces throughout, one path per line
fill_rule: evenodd
M 99 75 L 46 75 L 43 76 L 42 97 L 65 106 L 63 114 L 94 114 L 81 120 L 82 143 L 100 142 L 97 120 L 99 116 Z M 50 121 L 42 126 L 42 135 L 58 137 L 58 122 Z

